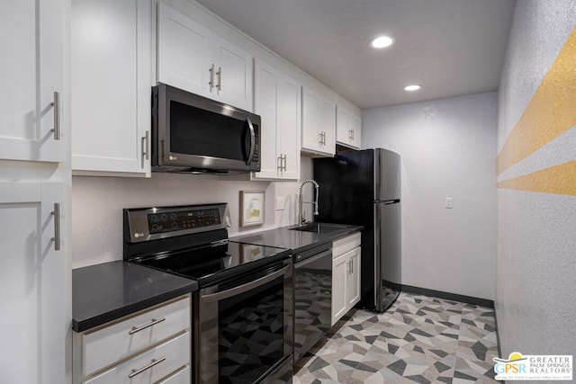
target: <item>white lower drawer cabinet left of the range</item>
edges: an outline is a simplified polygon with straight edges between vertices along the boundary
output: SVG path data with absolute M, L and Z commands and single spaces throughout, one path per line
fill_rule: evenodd
M 190 295 L 74 334 L 74 383 L 191 381 Z

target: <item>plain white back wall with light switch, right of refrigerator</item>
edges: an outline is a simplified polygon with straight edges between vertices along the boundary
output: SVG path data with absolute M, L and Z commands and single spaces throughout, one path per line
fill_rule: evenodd
M 363 147 L 401 155 L 402 283 L 494 299 L 496 106 L 489 93 L 363 112 Z

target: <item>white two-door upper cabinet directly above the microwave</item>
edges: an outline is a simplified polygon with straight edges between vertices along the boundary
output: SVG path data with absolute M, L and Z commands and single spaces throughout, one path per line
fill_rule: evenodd
M 158 3 L 157 81 L 252 111 L 253 58 L 214 31 Z

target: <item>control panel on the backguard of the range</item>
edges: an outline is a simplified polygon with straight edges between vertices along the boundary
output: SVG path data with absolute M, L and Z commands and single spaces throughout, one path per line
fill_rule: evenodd
M 124 210 L 131 243 L 229 227 L 226 203 Z

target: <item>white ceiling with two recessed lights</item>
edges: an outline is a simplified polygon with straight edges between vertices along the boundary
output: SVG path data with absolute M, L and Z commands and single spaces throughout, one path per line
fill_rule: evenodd
M 361 108 L 495 91 L 514 0 L 196 0 Z M 374 50 L 379 34 L 396 41 Z M 416 93 L 403 91 L 416 83 Z

